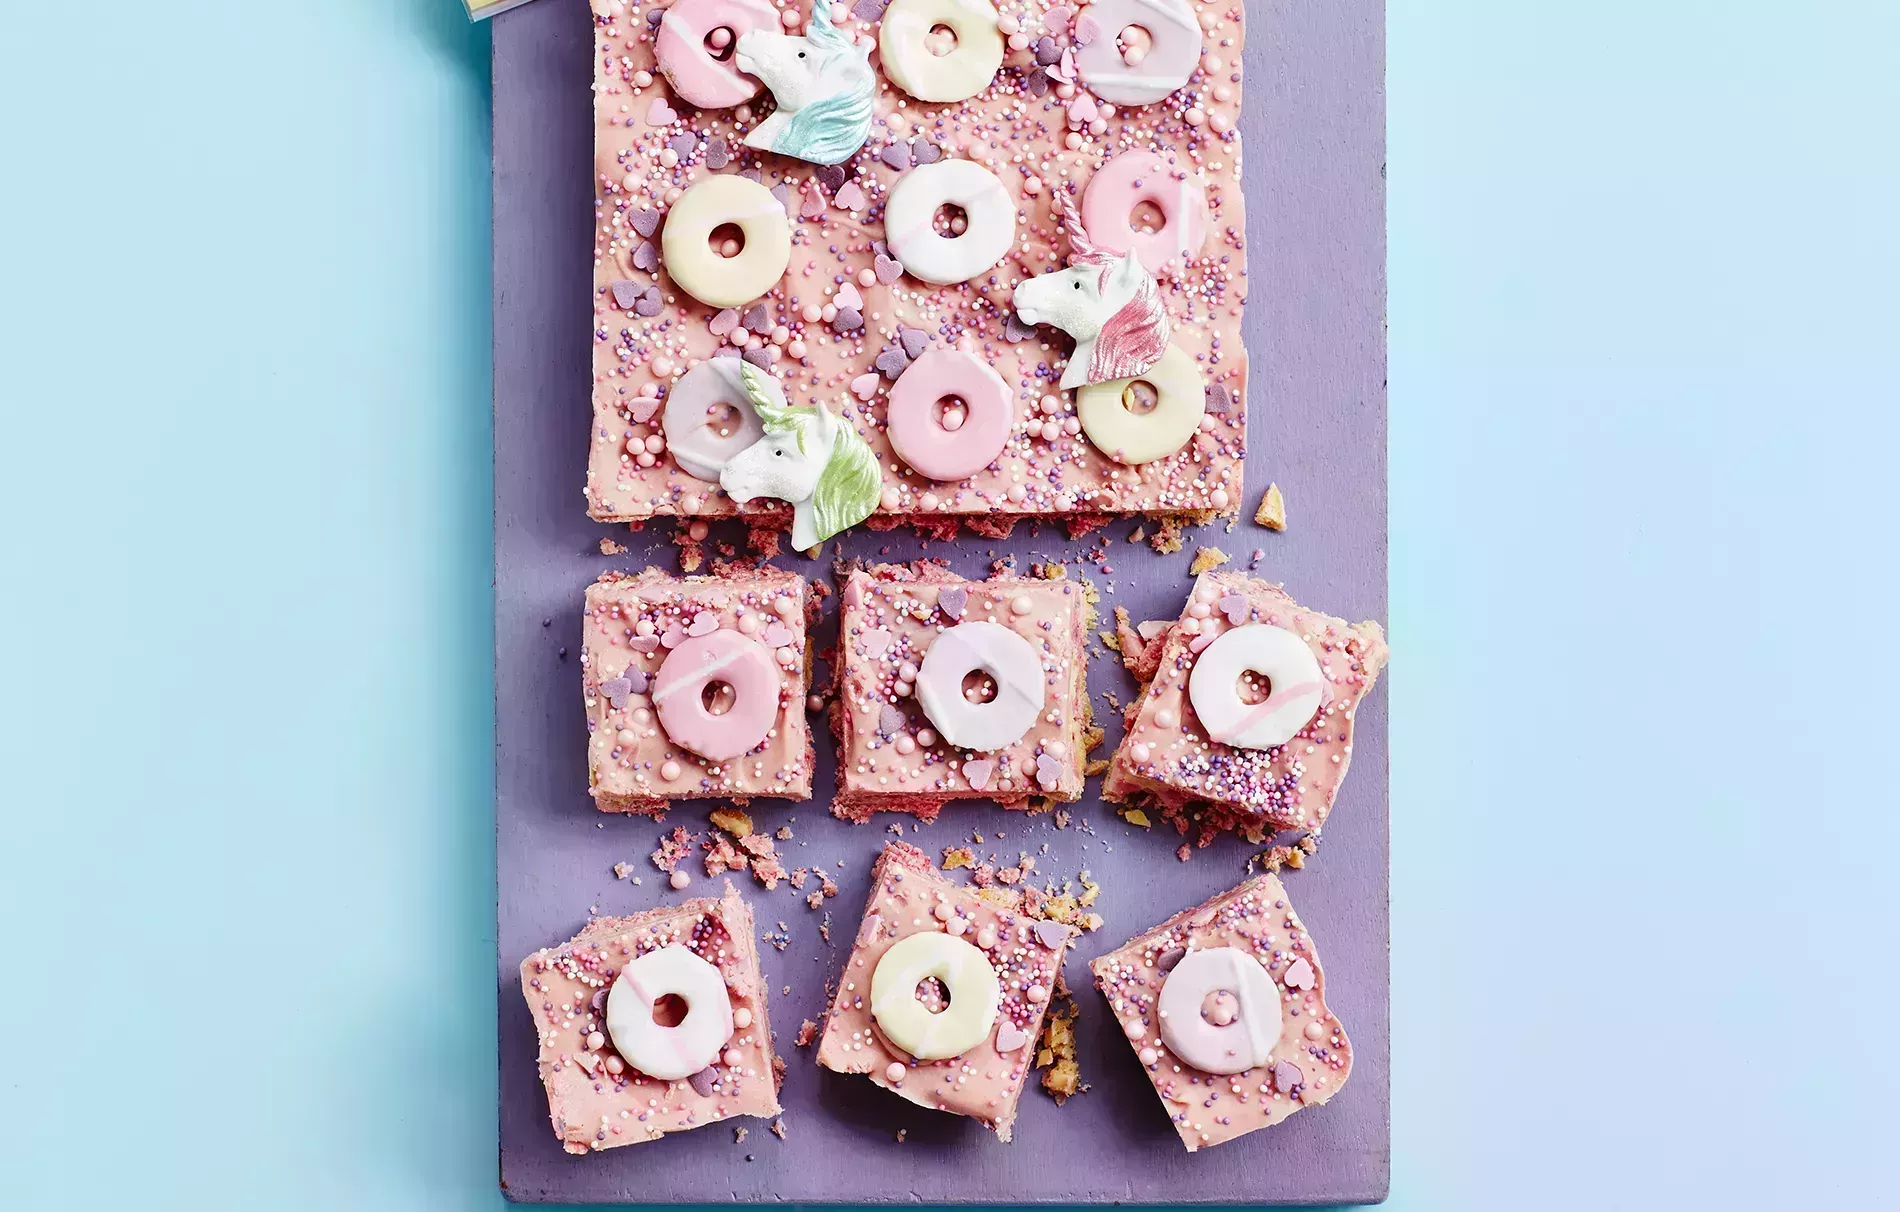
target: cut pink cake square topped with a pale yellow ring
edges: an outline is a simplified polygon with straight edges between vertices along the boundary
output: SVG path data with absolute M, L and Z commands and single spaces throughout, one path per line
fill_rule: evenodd
M 1074 931 L 952 883 L 891 842 L 825 1018 L 819 1064 L 1009 1140 Z M 933 982 L 935 978 L 935 982 Z

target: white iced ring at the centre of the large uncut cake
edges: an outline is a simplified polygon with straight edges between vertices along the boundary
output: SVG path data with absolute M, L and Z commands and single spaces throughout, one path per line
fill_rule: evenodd
M 933 230 L 937 209 L 963 207 L 961 236 Z M 1009 255 L 1016 241 L 1016 205 L 996 173 L 969 160 L 939 160 L 910 169 L 884 205 L 884 241 L 918 281 L 948 287 L 969 281 Z

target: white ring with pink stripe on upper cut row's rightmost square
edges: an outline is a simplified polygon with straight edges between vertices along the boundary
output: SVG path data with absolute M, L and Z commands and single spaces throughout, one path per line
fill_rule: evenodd
M 1262 703 L 1241 701 L 1241 674 L 1267 680 Z M 1286 745 L 1319 712 L 1326 674 L 1307 642 L 1271 623 L 1222 633 L 1195 657 L 1188 699 L 1206 735 L 1237 748 Z

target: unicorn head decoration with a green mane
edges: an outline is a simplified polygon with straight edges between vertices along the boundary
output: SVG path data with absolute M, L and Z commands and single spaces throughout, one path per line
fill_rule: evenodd
M 823 403 L 794 408 L 771 380 L 745 363 L 739 370 L 766 435 L 741 450 L 720 473 L 735 502 L 771 496 L 792 503 L 792 547 L 809 551 L 840 530 L 857 526 L 878 507 L 878 456 L 857 429 Z

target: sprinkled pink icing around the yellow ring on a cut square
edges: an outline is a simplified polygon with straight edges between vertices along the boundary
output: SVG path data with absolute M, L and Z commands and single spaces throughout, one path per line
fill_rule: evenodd
M 870 976 L 878 959 L 899 938 L 942 931 L 937 906 L 950 906 L 963 925 L 963 938 L 990 957 L 1003 988 L 990 1037 L 950 1060 L 912 1060 L 893 1049 L 870 1018 Z M 891 842 L 870 874 L 870 899 L 859 923 L 857 946 L 838 976 L 838 995 L 825 1018 L 819 1064 L 834 1073 L 864 1073 L 874 1083 L 920 1108 L 969 1115 L 1001 1140 L 1009 1140 L 1016 1100 L 1030 1073 L 1043 1014 L 1054 995 L 1072 931 L 1037 921 L 977 889 L 942 878 L 923 851 Z M 1039 994 L 1039 997 L 1037 997 Z M 1015 1028 L 1015 1030 L 1007 1030 Z M 998 1043 L 1020 1045 L 998 1051 Z M 904 1068 L 891 1079 L 891 1064 Z

